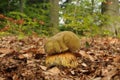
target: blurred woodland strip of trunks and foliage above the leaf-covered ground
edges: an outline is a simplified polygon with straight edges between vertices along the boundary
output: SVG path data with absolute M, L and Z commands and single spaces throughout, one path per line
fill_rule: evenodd
M 120 36 L 119 0 L 0 1 L 0 35 Z

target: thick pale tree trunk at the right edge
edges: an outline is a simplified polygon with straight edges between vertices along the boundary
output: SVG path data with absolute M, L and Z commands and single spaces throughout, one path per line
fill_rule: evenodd
M 103 24 L 104 29 L 109 30 L 114 35 L 117 35 L 120 29 L 119 17 L 119 1 L 118 0 L 106 0 L 102 2 L 102 14 L 107 17 L 108 24 Z

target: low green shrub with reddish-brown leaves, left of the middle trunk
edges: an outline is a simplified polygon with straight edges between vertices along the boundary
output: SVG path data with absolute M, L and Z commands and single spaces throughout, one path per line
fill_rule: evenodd
M 14 15 L 14 16 L 13 16 Z M 23 13 L 11 12 L 10 17 L 4 16 L 2 23 L 4 27 L 2 31 L 8 31 L 12 34 L 31 35 L 38 33 L 40 35 L 47 34 L 45 22 L 38 19 L 32 19 Z

